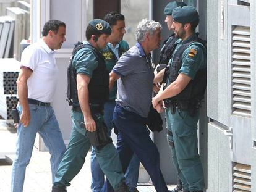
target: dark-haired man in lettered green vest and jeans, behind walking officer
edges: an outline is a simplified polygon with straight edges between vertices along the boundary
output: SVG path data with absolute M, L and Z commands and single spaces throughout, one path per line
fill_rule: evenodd
M 129 49 L 129 45 L 122 38 L 126 33 L 126 23 L 124 15 L 117 12 L 109 12 L 103 18 L 112 28 L 111 34 L 108 36 L 108 43 L 105 48 L 101 51 L 105 59 L 106 68 L 109 73 L 113 69 L 114 65 L 118 61 L 124 52 Z M 113 128 L 112 119 L 114 106 L 116 106 L 116 93 L 117 93 L 117 84 L 115 83 L 113 89 L 109 93 L 108 101 L 104 104 L 104 122 L 108 130 L 108 136 L 111 136 L 111 130 Z M 139 159 L 137 156 L 134 156 L 129 164 L 129 168 L 125 174 L 126 183 L 129 186 L 129 190 L 134 192 L 136 190 L 138 177 L 139 177 Z M 104 185 L 104 173 L 102 172 L 98 160 L 96 158 L 95 150 L 92 147 L 91 154 L 91 172 L 92 172 L 92 183 L 91 189 L 92 192 L 100 192 Z

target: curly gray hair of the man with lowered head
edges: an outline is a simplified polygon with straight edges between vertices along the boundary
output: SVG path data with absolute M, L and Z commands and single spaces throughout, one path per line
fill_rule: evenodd
M 153 35 L 155 30 L 162 29 L 162 26 L 159 22 L 155 22 L 154 20 L 150 19 L 142 19 L 141 22 L 139 22 L 139 25 L 136 29 L 136 38 L 137 41 L 140 43 L 145 40 L 145 36 L 148 33 L 149 35 Z

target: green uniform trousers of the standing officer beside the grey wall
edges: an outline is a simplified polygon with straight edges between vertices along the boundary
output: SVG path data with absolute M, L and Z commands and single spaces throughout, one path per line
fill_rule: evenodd
M 174 114 L 171 114 L 170 109 L 166 109 L 167 127 L 172 133 L 167 135 L 167 140 L 178 177 L 187 191 L 199 191 L 205 187 L 197 148 L 198 119 L 199 112 L 192 117 L 187 111 L 177 107 Z

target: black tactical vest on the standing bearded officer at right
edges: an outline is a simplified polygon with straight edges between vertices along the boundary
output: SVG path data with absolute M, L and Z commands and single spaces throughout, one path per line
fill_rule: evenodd
M 197 44 L 198 46 L 205 47 L 205 41 L 200 38 L 195 38 L 185 44 L 182 44 L 179 49 L 173 54 L 173 60 L 169 69 L 166 69 L 168 76 L 168 85 L 173 83 L 179 75 L 179 69 L 181 69 L 182 64 L 182 54 L 187 49 L 190 44 Z M 174 49 L 173 49 L 174 50 Z M 167 85 L 167 86 L 168 86 Z M 168 98 L 171 101 L 188 101 L 188 102 L 198 102 L 203 99 L 205 88 L 207 85 L 207 69 L 199 69 L 195 75 L 194 80 L 190 80 L 189 84 L 172 98 Z M 166 88 L 166 86 L 164 87 Z

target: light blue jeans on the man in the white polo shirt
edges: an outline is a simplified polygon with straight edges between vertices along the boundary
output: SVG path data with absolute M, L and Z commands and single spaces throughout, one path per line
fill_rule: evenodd
M 54 174 L 61 162 L 62 155 L 66 151 L 59 124 L 56 120 L 53 108 L 51 106 L 38 106 L 29 104 L 30 123 L 24 127 L 21 123 L 17 128 L 16 154 L 12 164 L 11 191 L 17 192 L 23 190 L 25 179 L 25 170 L 32 156 L 33 145 L 35 143 L 36 133 L 43 138 L 46 147 L 51 154 L 51 175 L 54 181 Z M 17 106 L 19 114 L 22 107 Z

